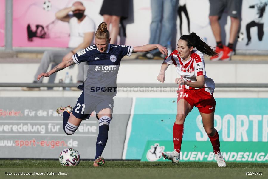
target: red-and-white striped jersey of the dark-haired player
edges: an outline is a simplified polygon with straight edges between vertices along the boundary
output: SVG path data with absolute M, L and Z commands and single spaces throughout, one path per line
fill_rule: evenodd
M 204 75 L 205 84 L 204 89 L 207 92 L 213 93 L 215 88 L 215 83 L 213 79 L 208 78 L 206 76 L 204 56 L 198 50 L 193 50 L 191 57 L 187 61 L 183 61 L 181 57 L 179 57 L 178 50 L 174 50 L 169 57 L 165 60 L 167 64 L 174 64 L 178 74 L 183 78 L 184 81 L 197 81 L 196 77 L 199 75 Z M 179 85 L 179 88 L 193 89 L 193 87 L 189 87 L 187 85 Z M 195 88 L 197 89 L 197 88 Z

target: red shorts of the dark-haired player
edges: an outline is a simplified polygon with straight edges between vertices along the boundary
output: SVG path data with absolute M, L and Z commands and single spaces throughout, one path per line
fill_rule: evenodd
M 177 103 L 180 99 L 184 99 L 187 101 L 192 109 L 193 107 L 197 107 L 199 112 L 209 114 L 215 111 L 216 101 L 213 97 L 213 93 L 205 91 L 204 88 L 189 90 L 189 89 L 179 89 L 177 91 L 178 99 Z

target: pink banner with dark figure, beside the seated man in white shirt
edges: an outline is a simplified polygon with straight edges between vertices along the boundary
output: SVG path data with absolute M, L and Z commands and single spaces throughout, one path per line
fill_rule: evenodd
M 13 0 L 13 47 L 67 47 L 69 25 L 57 20 L 55 13 L 71 3 L 68 0 Z

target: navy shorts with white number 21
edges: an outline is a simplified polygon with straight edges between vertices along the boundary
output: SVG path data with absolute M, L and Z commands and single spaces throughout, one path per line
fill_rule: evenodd
M 112 97 L 99 98 L 92 95 L 86 95 L 85 98 L 85 93 L 83 91 L 72 110 L 72 114 L 78 119 L 88 119 L 93 111 L 98 114 L 102 109 L 106 108 L 113 111 L 114 99 Z

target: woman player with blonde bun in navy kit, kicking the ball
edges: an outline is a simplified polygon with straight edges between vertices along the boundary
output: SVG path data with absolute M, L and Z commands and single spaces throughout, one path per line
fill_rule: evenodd
M 78 87 L 83 92 L 75 107 L 58 108 L 57 112 L 63 115 L 63 130 L 67 135 L 72 135 L 83 119 L 88 118 L 93 111 L 96 112 L 96 117 L 99 119 L 99 134 L 93 166 L 104 164 L 104 159 L 100 156 L 108 139 L 109 124 L 114 107 L 113 97 L 116 95 L 116 77 L 121 59 L 123 56 L 130 56 L 134 52 L 148 52 L 157 48 L 165 56 L 168 53 L 168 50 L 159 44 L 131 47 L 113 45 L 110 44 L 110 40 L 107 24 L 102 22 L 95 33 L 95 45 L 81 50 L 68 61 L 61 62 L 49 72 L 41 73 L 37 77 L 39 80 L 42 76 L 49 77 L 49 75 L 75 63 L 89 62 L 87 79 L 83 85 Z

